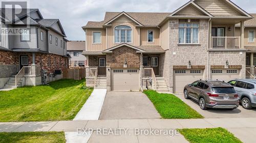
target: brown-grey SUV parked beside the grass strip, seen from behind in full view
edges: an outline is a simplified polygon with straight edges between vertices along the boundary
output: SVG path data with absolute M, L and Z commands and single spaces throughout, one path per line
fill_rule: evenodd
M 197 80 L 187 84 L 184 97 L 199 102 L 201 109 L 235 109 L 239 106 L 238 94 L 232 85 L 219 80 Z

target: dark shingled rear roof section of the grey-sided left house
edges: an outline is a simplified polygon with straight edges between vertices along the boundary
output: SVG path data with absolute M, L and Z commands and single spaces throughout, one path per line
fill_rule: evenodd
M 56 29 L 53 27 L 53 25 L 54 25 L 55 23 L 57 23 L 58 26 L 59 26 L 59 28 L 60 28 L 60 30 L 61 30 L 61 33 L 59 33 L 59 34 L 61 34 L 62 36 L 66 37 L 65 31 L 63 30 L 63 27 L 62 27 L 62 25 L 61 25 L 59 19 L 37 19 L 37 22 L 38 22 L 39 24 L 41 24 L 41 25 L 47 27 L 47 28 L 50 28 L 50 29 L 53 30 L 54 32 L 59 33 L 58 30 L 56 30 Z

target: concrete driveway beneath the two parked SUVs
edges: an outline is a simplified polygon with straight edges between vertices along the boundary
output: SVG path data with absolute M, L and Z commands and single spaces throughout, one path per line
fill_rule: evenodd
M 205 118 L 255 118 L 256 108 L 251 110 L 244 109 L 241 105 L 237 109 L 227 110 L 227 109 L 200 109 L 198 103 L 194 100 L 187 100 L 184 98 L 183 94 L 176 94 L 181 100 L 183 100 L 187 105 L 195 109 Z

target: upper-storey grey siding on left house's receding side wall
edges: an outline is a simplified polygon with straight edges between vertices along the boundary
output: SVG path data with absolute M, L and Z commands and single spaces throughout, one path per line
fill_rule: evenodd
M 52 43 L 50 43 L 50 35 L 52 35 Z M 58 45 L 55 45 L 55 38 L 58 38 Z M 59 55 L 63 55 L 63 46 L 62 48 L 60 47 L 60 40 L 62 40 L 63 42 L 63 37 L 61 35 L 59 35 L 56 32 L 53 31 L 49 31 L 48 32 L 48 44 L 49 44 L 49 52 L 50 53 L 54 53 L 54 54 L 59 54 Z M 40 40 L 40 39 L 38 39 Z M 67 44 L 66 44 L 67 45 Z

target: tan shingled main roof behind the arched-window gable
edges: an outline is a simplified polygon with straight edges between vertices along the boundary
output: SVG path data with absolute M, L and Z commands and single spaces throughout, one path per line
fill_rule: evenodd
M 83 28 L 102 28 L 106 22 L 119 14 L 120 12 L 106 12 L 103 21 L 88 21 Z M 126 14 L 130 15 L 144 26 L 157 26 L 170 13 L 126 12 Z

